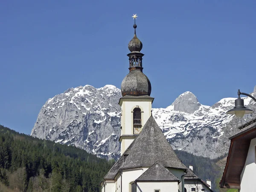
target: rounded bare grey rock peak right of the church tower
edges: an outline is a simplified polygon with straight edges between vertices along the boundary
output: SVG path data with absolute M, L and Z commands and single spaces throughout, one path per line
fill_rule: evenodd
M 186 91 L 175 99 L 172 106 L 175 111 L 194 113 L 200 108 L 201 104 L 193 93 Z

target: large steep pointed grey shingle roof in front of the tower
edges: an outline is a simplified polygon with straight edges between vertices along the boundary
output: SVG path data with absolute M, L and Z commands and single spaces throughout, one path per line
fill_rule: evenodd
M 134 140 L 131 152 L 120 169 L 148 167 L 155 162 L 161 163 L 164 167 L 187 169 L 180 162 L 157 122 L 151 116 Z

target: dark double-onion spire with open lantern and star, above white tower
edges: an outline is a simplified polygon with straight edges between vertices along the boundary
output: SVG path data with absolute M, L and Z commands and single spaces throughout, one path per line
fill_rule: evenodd
M 151 83 L 147 76 L 143 73 L 141 49 L 143 47 L 140 39 L 137 38 L 135 23 L 136 17 L 134 17 L 134 37 L 128 44 L 128 49 L 131 51 L 128 53 L 129 57 L 129 73 L 122 81 L 121 92 L 122 96 L 150 96 Z

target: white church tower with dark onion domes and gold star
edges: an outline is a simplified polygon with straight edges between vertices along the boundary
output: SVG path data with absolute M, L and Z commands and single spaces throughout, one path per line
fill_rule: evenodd
M 121 155 L 131 145 L 143 129 L 145 122 L 151 116 L 152 102 L 150 97 L 151 83 L 143 73 L 141 53 L 142 42 L 136 35 L 136 15 L 134 15 L 134 37 L 128 44 L 129 73 L 122 81 L 122 98 L 119 100 L 121 105 Z

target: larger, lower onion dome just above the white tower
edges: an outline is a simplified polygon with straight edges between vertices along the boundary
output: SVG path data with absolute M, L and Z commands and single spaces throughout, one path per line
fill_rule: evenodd
M 122 96 L 150 96 L 151 83 L 140 70 L 131 70 L 122 81 Z

